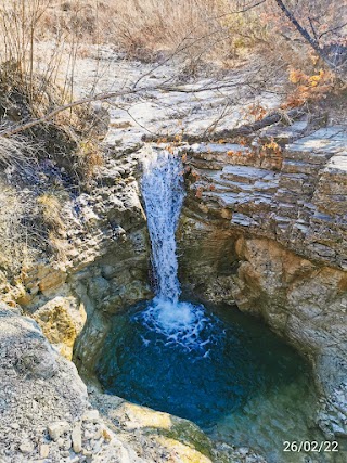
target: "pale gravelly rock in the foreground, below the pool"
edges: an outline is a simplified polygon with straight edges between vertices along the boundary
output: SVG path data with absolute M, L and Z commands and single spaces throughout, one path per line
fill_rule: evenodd
M 248 449 L 216 448 L 185 420 L 88 395 L 37 323 L 3 303 L 0 347 L 3 463 L 265 462 Z

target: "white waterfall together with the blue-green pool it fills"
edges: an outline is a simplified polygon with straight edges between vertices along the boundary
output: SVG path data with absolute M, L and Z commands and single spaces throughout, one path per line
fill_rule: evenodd
M 305 462 L 305 453 L 283 452 L 283 441 L 322 439 L 309 365 L 236 308 L 180 300 L 181 172 L 179 157 L 167 151 L 144 162 L 155 297 L 115 316 L 99 378 L 108 394 L 189 419 L 211 438 L 252 447 L 270 463 Z

